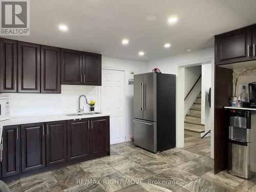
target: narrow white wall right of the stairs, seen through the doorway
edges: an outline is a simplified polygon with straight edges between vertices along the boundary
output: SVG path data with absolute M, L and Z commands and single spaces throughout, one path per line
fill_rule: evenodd
M 201 123 L 205 125 L 205 132 L 211 129 L 211 110 L 208 102 L 209 88 L 211 87 L 211 64 L 202 65 L 202 99 Z

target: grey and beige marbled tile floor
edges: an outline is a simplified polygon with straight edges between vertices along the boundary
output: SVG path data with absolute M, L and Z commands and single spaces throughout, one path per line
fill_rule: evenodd
M 209 146 L 209 138 L 185 136 L 184 148 L 153 154 L 133 142 L 119 143 L 111 145 L 111 156 L 7 184 L 11 191 L 256 191 L 255 178 L 214 175 Z

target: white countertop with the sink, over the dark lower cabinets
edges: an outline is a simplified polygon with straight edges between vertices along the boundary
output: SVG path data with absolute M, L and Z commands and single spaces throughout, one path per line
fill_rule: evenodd
M 75 114 L 75 113 L 68 113 L 68 114 Z M 27 124 L 27 123 L 63 121 L 63 120 L 83 119 L 83 118 L 93 118 L 93 117 L 103 117 L 103 116 L 109 116 L 109 114 L 101 113 L 101 114 L 79 115 L 79 116 L 67 116 L 65 114 L 49 114 L 49 115 L 31 115 L 31 116 L 11 117 L 8 120 L 0 121 L 0 140 L 2 139 L 3 126 L 19 125 L 19 124 Z

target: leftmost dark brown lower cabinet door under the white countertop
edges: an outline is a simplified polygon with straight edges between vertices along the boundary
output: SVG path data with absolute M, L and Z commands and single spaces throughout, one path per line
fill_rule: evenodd
M 2 135 L 2 177 L 20 173 L 19 126 L 5 126 Z

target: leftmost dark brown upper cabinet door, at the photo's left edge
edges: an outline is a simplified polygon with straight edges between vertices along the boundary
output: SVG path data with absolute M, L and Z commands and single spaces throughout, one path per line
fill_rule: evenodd
M 0 38 L 0 92 L 17 92 L 17 41 Z

